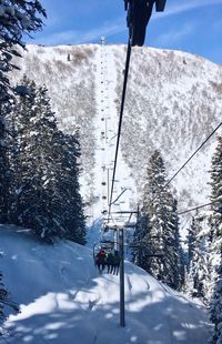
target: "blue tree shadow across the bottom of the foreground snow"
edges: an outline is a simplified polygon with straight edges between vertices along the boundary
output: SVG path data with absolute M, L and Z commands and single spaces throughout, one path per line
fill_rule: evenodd
M 206 344 L 210 326 L 195 305 L 169 295 L 155 301 L 151 291 L 125 303 L 125 327 L 119 325 L 119 303 L 70 301 L 48 314 L 16 321 L 9 343 L 53 344 Z M 148 300 L 149 299 L 149 300 Z M 149 301 L 149 302 L 148 302 Z M 145 304 L 145 305 L 144 305 Z M 1 343 L 1 342 L 0 342 Z

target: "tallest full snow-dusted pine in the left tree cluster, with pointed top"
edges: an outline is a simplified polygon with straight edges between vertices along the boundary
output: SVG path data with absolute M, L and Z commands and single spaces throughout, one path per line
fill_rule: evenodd
M 51 231 L 47 205 L 49 195 L 44 185 L 46 162 L 50 139 L 57 129 L 49 104 L 42 97 L 44 90 L 23 79 L 23 92 L 9 114 L 14 144 L 11 151 L 11 223 L 32 227 L 40 235 Z M 40 232 L 39 232 L 40 231 Z

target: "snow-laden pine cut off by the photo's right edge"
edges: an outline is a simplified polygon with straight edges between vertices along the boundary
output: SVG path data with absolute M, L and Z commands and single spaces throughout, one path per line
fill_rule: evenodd
M 214 323 L 212 343 L 222 343 L 222 136 L 218 139 L 218 146 L 211 164 L 211 202 L 212 215 L 210 263 L 212 269 L 211 280 L 214 282 L 211 302 L 211 320 Z

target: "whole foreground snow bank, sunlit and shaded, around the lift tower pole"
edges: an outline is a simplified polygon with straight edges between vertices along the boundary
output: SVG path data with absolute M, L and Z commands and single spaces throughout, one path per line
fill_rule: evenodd
M 121 328 L 119 277 L 98 275 L 89 249 L 71 242 L 42 245 L 10 226 L 1 226 L 0 239 L 6 285 L 21 305 L 8 321 L 13 330 L 8 343 L 208 343 L 204 310 L 135 265 L 125 262 L 127 326 Z

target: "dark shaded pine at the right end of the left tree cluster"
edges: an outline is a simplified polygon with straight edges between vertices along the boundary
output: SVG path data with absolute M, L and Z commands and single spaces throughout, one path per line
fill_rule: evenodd
M 85 224 L 83 202 L 80 195 L 79 159 L 80 144 L 78 132 L 63 134 L 61 131 L 53 136 L 51 153 L 53 156 L 54 184 L 51 184 L 54 201 L 51 213 L 53 221 L 65 229 L 63 237 L 85 243 Z M 57 210 L 54 204 L 58 204 Z

